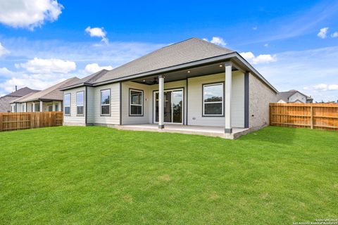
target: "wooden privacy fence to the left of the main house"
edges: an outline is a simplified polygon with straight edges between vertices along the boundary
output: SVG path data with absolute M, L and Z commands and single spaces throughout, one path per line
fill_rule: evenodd
M 0 131 L 62 126 L 62 112 L 0 113 Z

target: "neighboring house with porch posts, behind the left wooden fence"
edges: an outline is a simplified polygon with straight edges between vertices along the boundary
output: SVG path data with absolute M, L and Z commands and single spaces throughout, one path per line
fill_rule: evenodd
M 12 113 L 61 111 L 63 86 L 69 86 L 80 79 L 73 77 L 36 93 L 27 94 L 11 102 Z

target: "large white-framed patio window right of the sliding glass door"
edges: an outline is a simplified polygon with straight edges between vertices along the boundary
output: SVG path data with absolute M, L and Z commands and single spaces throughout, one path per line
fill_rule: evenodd
M 223 83 L 203 85 L 203 115 L 223 116 Z

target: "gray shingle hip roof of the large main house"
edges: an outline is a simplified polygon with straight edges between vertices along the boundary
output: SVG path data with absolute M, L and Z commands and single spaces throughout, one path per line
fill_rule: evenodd
M 81 79 L 77 84 L 66 86 L 63 90 L 83 85 L 99 86 L 137 77 L 170 72 L 202 63 L 230 60 L 231 58 L 234 58 L 236 63 L 243 65 L 245 70 L 253 72 L 253 75 L 259 77 L 265 84 L 277 92 L 239 53 L 198 38 L 191 38 L 165 46 L 110 71 L 101 70 L 94 75 L 84 77 L 84 79 Z

